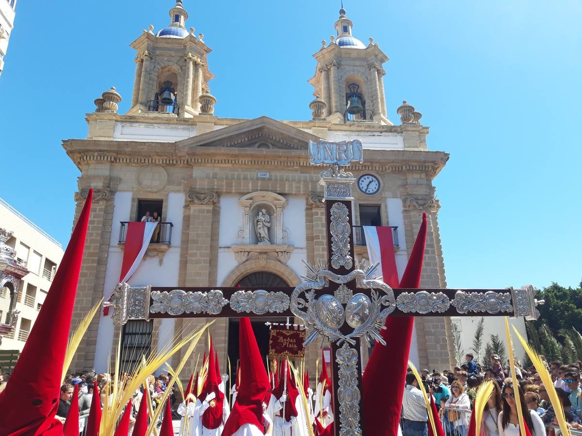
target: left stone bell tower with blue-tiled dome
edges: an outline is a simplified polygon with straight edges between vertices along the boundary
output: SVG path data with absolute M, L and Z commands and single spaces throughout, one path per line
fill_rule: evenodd
M 204 44 L 203 34 L 196 37 L 193 27 L 186 30 L 188 13 L 182 0 L 176 0 L 169 16 L 168 26 L 157 33 L 150 26 L 131 44 L 137 51 L 136 74 L 127 115 L 212 115 L 216 99 L 210 95 L 208 82 L 214 74 L 208 70 L 206 57 L 211 49 Z

